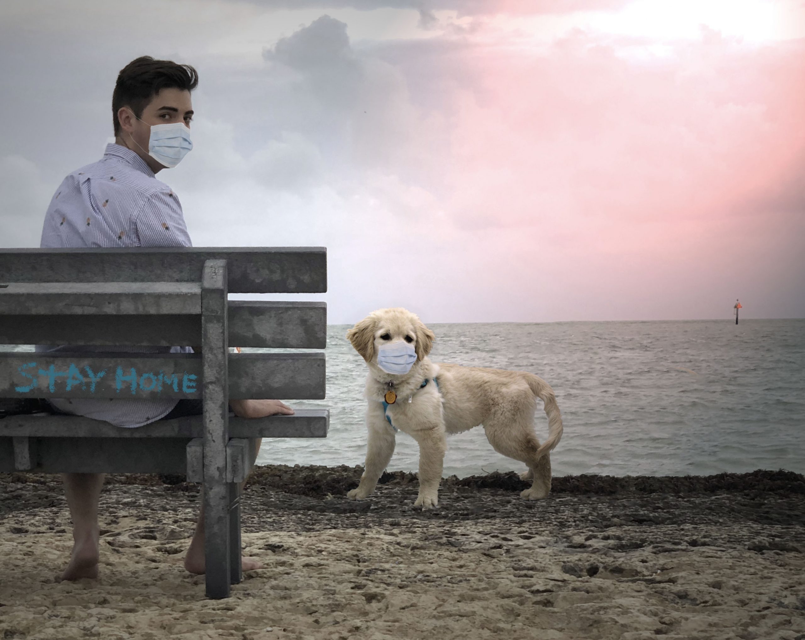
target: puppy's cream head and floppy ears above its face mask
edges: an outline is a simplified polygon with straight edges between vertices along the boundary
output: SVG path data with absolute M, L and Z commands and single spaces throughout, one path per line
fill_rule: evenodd
M 416 359 L 421 361 L 431 353 L 434 338 L 415 313 L 400 307 L 371 312 L 347 332 L 347 339 L 367 362 L 374 361 L 379 346 L 401 340 L 414 346 Z

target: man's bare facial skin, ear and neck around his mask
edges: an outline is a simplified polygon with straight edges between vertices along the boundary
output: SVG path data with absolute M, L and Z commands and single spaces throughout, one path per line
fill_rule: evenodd
M 148 140 L 151 138 L 151 125 L 184 122 L 188 127 L 193 117 L 190 92 L 184 89 L 161 89 L 153 100 L 142 109 L 140 119 L 134 118 L 134 111 L 124 106 L 118 109 L 120 135 L 122 142 L 142 158 L 155 173 L 166 168 L 162 163 L 148 155 Z M 142 121 L 142 122 L 141 122 Z

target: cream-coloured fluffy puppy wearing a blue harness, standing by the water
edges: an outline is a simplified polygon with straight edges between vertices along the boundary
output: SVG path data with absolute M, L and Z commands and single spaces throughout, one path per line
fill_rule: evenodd
M 415 506 L 436 506 L 446 436 L 478 424 L 483 424 L 495 451 L 528 465 L 520 477 L 533 484 L 520 494 L 522 498 L 547 497 L 551 490 L 549 452 L 562 437 L 562 418 L 554 392 L 542 378 L 525 371 L 431 362 L 427 354 L 431 353 L 433 332 L 403 308 L 372 312 L 349 329 L 347 338 L 369 365 L 366 465 L 361 483 L 347 498 L 360 500 L 374 491 L 394 453 L 394 436 L 399 430 L 419 443 Z M 404 349 L 398 344 L 401 342 L 415 349 L 415 362 L 407 374 L 388 374 L 378 366 L 378 349 L 384 345 Z M 534 427 L 536 398 L 542 399 L 548 416 L 549 435 L 542 446 Z

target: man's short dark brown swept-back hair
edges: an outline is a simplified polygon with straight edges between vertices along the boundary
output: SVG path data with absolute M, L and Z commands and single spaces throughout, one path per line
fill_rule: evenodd
M 114 134 L 120 134 L 118 109 L 122 106 L 131 107 L 134 115 L 141 118 L 143 109 L 162 89 L 192 91 L 198 84 L 198 73 L 189 64 L 154 60 L 151 56 L 140 56 L 132 60 L 118 73 L 118 81 L 112 93 Z

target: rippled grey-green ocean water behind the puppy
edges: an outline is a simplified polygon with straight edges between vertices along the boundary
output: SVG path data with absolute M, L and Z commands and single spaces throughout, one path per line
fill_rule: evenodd
M 328 408 L 328 437 L 263 440 L 258 464 L 363 465 L 366 367 L 345 337 L 350 326 L 328 326 L 327 398 L 282 398 Z M 554 476 L 805 473 L 805 320 L 428 327 L 433 361 L 530 371 L 553 387 L 564 422 Z M 542 402 L 535 428 L 544 440 Z M 415 441 L 399 433 L 388 469 L 418 464 Z M 448 438 L 444 477 L 496 470 L 525 465 L 495 452 L 483 427 Z

